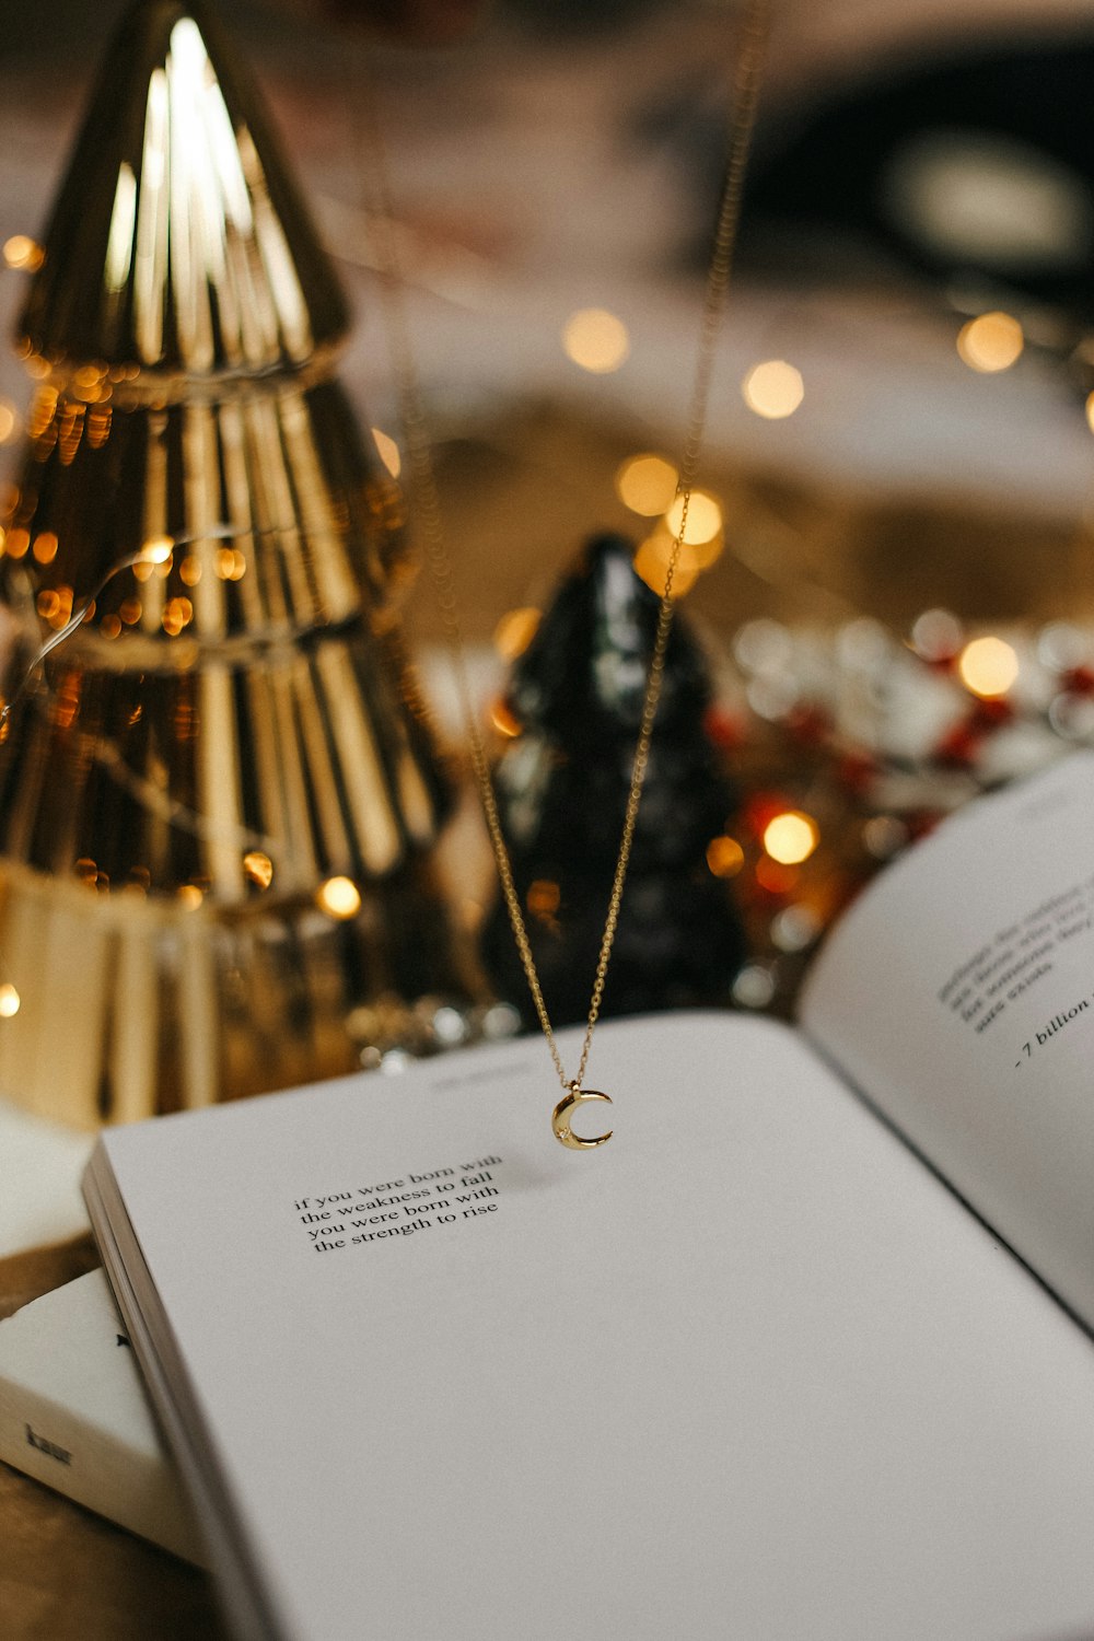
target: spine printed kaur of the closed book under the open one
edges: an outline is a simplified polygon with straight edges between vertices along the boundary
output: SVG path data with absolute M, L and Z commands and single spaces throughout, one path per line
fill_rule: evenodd
M 202 1543 L 162 1452 L 143 1452 L 71 1408 L 0 1378 L 0 1459 L 197 1566 Z

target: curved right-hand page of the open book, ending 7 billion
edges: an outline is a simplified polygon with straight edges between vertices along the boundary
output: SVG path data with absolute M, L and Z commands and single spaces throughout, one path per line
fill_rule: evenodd
M 884 873 L 800 1017 L 1094 1329 L 1094 758 L 981 799 Z

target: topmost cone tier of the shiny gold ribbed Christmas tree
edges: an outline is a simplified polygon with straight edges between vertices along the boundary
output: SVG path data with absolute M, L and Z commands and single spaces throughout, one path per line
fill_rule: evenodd
M 195 376 L 321 369 L 346 302 L 205 7 L 133 7 L 72 156 L 21 322 L 66 381 L 98 366 L 156 399 L 172 381 L 190 397 Z

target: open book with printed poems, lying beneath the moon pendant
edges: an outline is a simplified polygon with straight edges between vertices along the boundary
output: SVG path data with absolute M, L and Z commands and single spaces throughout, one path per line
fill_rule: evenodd
M 105 1134 L 238 1634 L 1092 1633 L 1092 817 L 1073 758 L 946 824 L 800 1031 L 604 1026 L 597 1152 L 535 1039 Z

